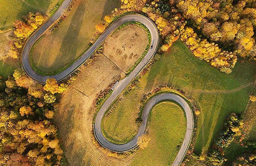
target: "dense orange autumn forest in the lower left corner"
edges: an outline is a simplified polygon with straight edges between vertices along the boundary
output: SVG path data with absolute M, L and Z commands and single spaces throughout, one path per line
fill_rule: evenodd
M 22 69 L 0 78 L 0 165 L 60 165 L 63 150 L 52 122 L 67 84 L 33 82 Z

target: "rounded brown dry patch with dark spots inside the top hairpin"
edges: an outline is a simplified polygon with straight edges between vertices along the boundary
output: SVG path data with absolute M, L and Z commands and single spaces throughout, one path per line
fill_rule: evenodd
M 127 25 L 106 39 L 104 54 L 125 72 L 142 56 L 147 45 L 145 30 L 138 25 Z

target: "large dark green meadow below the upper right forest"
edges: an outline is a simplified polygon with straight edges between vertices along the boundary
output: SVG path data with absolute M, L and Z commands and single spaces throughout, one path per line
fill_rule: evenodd
M 226 75 L 191 55 L 181 42 L 161 56 L 148 74 L 146 89 L 168 85 L 185 91 L 201 109 L 195 151 L 207 151 L 213 138 L 231 112 L 242 112 L 247 105 L 249 88 L 254 82 L 255 63 L 237 63 L 231 75 Z M 239 88 L 241 88 L 239 90 Z

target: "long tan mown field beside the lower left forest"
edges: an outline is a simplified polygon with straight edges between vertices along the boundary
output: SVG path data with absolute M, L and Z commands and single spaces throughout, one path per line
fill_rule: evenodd
M 92 140 L 92 107 L 96 97 L 116 77 L 122 74 L 111 60 L 97 56 L 90 65 L 82 66 L 81 73 L 63 93 L 55 124 L 60 131 L 69 165 L 118 165 L 119 160 L 108 157 L 104 148 Z M 121 165 L 124 163 L 120 163 Z

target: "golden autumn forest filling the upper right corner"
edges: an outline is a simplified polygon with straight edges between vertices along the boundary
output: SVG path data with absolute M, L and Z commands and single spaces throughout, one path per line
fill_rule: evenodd
M 121 8 L 106 15 L 96 30 L 103 32 L 129 11 L 155 22 L 163 52 L 180 39 L 194 56 L 226 73 L 232 72 L 238 56 L 256 60 L 255 0 L 121 0 Z

